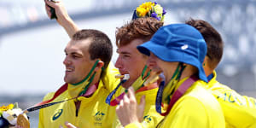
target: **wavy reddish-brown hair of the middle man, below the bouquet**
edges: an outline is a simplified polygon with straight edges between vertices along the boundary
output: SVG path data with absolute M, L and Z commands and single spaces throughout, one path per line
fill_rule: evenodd
M 152 17 L 131 20 L 125 26 L 117 28 L 115 32 L 116 45 L 118 47 L 124 46 L 137 38 L 146 42 L 161 26 L 163 26 L 163 22 Z

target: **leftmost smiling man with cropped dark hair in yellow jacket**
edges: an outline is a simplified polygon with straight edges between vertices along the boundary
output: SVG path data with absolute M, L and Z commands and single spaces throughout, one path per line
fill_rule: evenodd
M 119 84 L 114 78 L 119 72 L 109 64 L 112 44 L 108 36 L 96 30 L 81 30 L 73 35 L 65 52 L 67 88 L 51 102 L 79 97 L 41 109 L 38 127 L 59 127 L 66 121 L 78 127 L 112 127 L 115 108 L 105 99 Z M 54 94 L 49 93 L 44 101 Z

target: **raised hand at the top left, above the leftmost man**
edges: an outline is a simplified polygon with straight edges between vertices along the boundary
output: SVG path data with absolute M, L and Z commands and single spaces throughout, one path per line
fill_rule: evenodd
M 57 21 L 61 26 L 64 26 L 66 20 L 70 19 L 69 15 L 67 15 L 67 9 L 65 9 L 64 4 L 62 3 L 61 0 L 59 0 L 57 2 L 51 2 L 48 0 L 44 0 L 44 3 L 45 3 L 46 13 L 49 18 L 51 17 L 49 6 L 55 9 Z

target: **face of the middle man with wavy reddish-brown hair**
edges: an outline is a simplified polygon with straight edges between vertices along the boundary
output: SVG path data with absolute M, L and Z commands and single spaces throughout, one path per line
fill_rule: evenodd
M 134 39 L 130 44 L 119 47 L 117 50 L 119 57 L 115 67 L 119 68 L 119 73 L 130 74 L 130 79 L 123 84 L 125 88 L 131 86 L 133 82 L 142 74 L 146 65 L 147 56 L 137 50 L 137 45 L 143 44 L 142 39 Z

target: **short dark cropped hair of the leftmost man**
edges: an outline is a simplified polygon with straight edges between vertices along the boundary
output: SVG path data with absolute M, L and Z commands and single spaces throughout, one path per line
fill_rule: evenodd
M 107 68 L 113 54 L 113 46 L 108 36 L 98 30 L 83 29 L 76 32 L 73 40 L 90 39 L 89 54 L 90 60 L 101 59 L 104 67 Z

